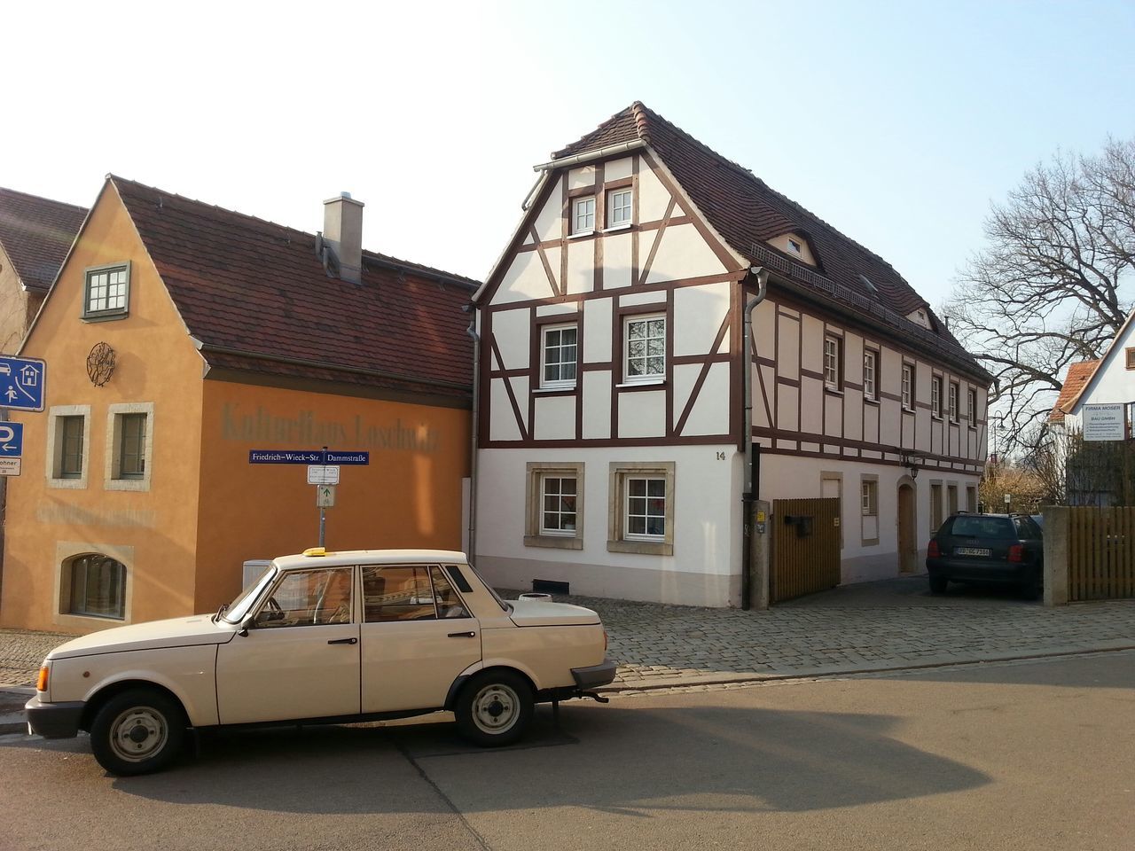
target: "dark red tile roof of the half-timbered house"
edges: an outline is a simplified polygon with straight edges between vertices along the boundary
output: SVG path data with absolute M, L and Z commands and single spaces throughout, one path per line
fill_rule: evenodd
M 741 256 L 798 279 L 814 294 L 840 302 L 843 307 L 885 319 L 932 348 L 941 347 L 969 371 L 991 378 L 890 263 L 642 103 L 636 101 L 552 157 L 562 159 L 634 140 L 658 152 L 690 200 Z M 818 275 L 766 244 L 793 231 L 808 239 Z M 875 292 L 860 276 L 871 281 Z M 905 319 L 919 307 L 930 318 L 930 334 Z

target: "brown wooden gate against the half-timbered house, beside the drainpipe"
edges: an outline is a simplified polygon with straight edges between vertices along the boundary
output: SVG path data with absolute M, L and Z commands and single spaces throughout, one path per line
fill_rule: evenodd
M 839 499 L 773 500 L 772 603 L 840 583 L 839 517 Z

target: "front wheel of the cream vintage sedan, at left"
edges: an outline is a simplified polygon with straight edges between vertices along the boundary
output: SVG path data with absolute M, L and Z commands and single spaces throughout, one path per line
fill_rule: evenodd
M 131 689 L 108 700 L 91 724 L 99 765 L 120 777 L 169 765 L 185 736 L 182 708 L 154 689 Z

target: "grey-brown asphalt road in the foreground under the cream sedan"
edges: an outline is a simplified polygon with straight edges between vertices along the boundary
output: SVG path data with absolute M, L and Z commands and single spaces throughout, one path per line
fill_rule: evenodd
M 1135 652 L 565 705 L 527 747 L 449 725 L 220 734 L 115 780 L 0 738 L 0 849 L 1135 850 Z

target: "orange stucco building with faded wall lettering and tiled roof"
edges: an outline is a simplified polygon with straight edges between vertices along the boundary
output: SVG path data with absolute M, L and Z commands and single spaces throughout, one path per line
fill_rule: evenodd
M 329 548 L 462 544 L 476 281 L 110 176 L 22 356 L 47 362 L 10 481 L 0 624 L 86 632 L 217 608 L 318 542 L 302 464 L 343 466 Z

